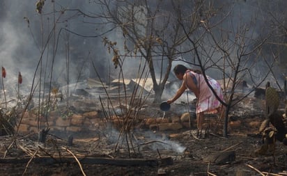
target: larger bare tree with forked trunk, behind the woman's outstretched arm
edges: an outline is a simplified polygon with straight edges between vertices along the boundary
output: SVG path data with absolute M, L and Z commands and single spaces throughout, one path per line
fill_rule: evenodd
M 97 1 L 102 17 L 121 29 L 125 56 L 143 57 L 153 79 L 155 102 L 160 102 L 171 72 L 171 63 L 181 53 L 187 37 L 178 15 L 189 12 L 187 35 L 200 25 L 201 1 Z M 118 38 L 119 40 L 121 38 Z

